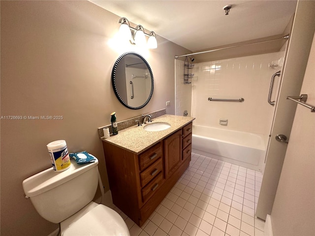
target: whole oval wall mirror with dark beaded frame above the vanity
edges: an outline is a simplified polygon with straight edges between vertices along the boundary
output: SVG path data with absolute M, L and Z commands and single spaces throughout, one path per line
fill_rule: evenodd
M 112 86 L 118 100 L 127 108 L 140 109 L 153 94 L 153 74 L 148 62 L 134 52 L 120 56 L 112 70 Z

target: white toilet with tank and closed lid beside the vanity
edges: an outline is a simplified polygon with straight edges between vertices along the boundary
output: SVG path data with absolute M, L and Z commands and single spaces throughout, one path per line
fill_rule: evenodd
M 96 158 L 95 158 L 96 159 Z M 60 223 L 62 236 L 130 236 L 123 218 L 113 209 L 93 202 L 98 185 L 98 160 L 53 168 L 23 181 L 26 198 L 46 220 Z

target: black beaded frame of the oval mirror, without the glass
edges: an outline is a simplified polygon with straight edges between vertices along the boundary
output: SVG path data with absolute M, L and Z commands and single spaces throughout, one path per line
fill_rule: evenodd
M 120 97 L 118 91 L 117 91 L 117 87 L 116 87 L 116 70 L 117 70 L 117 67 L 118 67 L 118 64 L 119 62 L 121 61 L 121 59 L 123 59 L 125 56 L 127 55 L 135 55 L 137 57 L 139 57 L 140 59 L 142 59 L 144 61 L 144 63 L 146 63 L 149 71 L 150 71 L 150 76 L 151 76 L 151 82 L 152 82 L 152 87 L 151 87 L 151 92 L 150 92 L 150 95 L 147 99 L 147 101 L 142 104 L 141 106 L 139 107 L 131 107 L 129 106 L 128 104 L 126 104 L 126 102 Z M 112 70 L 112 86 L 113 86 L 113 89 L 114 89 L 114 92 L 115 92 L 115 95 L 116 97 L 118 98 L 118 100 L 127 108 L 129 109 L 133 109 L 133 110 L 137 110 L 137 109 L 141 109 L 143 108 L 144 106 L 146 106 L 148 104 L 148 102 L 150 101 L 152 95 L 153 95 L 153 88 L 154 88 L 154 81 L 153 81 L 153 73 L 152 73 L 152 70 L 151 70 L 151 67 L 149 65 L 149 63 L 147 62 L 146 59 L 144 59 L 140 54 L 138 53 L 135 53 L 135 52 L 127 52 L 127 53 L 124 53 L 123 55 L 121 55 L 115 62 L 114 64 L 114 67 L 113 67 L 113 70 Z

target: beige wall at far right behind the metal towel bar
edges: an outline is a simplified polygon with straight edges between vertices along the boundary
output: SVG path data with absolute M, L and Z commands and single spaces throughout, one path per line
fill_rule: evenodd
M 315 105 L 315 35 L 301 94 Z M 284 165 L 271 212 L 273 235 L 315 233 L 315 113 L 297 105 Z

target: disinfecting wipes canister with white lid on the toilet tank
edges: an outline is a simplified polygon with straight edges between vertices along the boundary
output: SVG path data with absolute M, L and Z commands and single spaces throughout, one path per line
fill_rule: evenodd
M 50 159 L 56 172 L 62 172 L 71 165 L 67 144 L 64 140 L 57 140 L 47 144 Z

